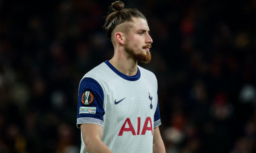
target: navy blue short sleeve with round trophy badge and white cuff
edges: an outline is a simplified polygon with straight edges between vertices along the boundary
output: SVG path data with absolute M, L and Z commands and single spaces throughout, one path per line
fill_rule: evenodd
M 79 84 L 77 101 L 77 127 L 82 123 L 103 125 L 104 92 L 100 84 L 85 77 Z

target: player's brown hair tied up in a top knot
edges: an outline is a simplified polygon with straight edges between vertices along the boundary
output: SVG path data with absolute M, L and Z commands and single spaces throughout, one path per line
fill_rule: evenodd
M 103 28 L 106 30 L 110 40 L 111 34 L 117 25 L 124 23 L 125 21 L 133 21 L 132 17 L 146 19 L 139 10 L 125 8 L 125 4 L 121 1 L 115 1 L 108 7 L 108 9 L 109 14 L 106 17 L 106 22 L 104 23 Z

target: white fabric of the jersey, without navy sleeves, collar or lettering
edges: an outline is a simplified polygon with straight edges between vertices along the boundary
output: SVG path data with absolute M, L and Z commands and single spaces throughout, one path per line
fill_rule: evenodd
M 158 85 L 155 75 L 139 66 L 141 76 L 137 81 L 129 81 L 120 77 L 106 63 L 102 63 L 90 70 L 85 77 L 95 79 L 104 92 L 104 120 L 102 142 L 114 153 L 149 153 L 153 148 L 153 136 L 150 130 L 150 117 L 152 130 L 154 126 L 161 124 L 160 119 L 154 121 L 154 114 L 158 105 Z M 150 100 L 152 97 L 152 102 Z M 123 99 L 121 101 L 121 99 Z M 121 101 L 115 105 L 115 101 Z M 150 104 L 152 103 L 152 109 Z M 129 119 L 127 119 L 129 118 Z M 132 127 L 129 127 L 129 120 Z M 123 131 L 119 136 L 121 127 L 130 131 Z M 98 123 L 99 124 L 99 123 Z M 100 124 L 99 124 L 100 125 Z M 143 127 L 146 127 L 142 135 Z M 134 132 L 131 132 L 131 129 Z M 122 133 L 122 132 L 121 132 Z M 85 153 L 85 145 L 82 139 L 81 152 Z

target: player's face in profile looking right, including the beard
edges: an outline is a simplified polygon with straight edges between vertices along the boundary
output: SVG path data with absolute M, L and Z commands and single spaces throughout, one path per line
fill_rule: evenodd
M 148 22 L 145 19 L 133 17 L 129 28 L 125 39 L 125 51 L 139 62 L 150 62 L 150 48 L 153 40 L 149 34 Z

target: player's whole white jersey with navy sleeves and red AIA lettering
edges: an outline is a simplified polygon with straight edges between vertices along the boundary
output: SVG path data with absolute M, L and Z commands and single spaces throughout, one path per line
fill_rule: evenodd
M 108 60 L 84 75 L 79 83 L 77 127 L 103 127 L 102 142 L 114 153 L 153 152 L 154 127 L 161 124 L 155 75 L 138 66 L 127 76 Z M 81 132 L 81 152 L 86 146 Z

